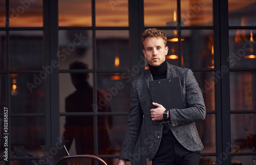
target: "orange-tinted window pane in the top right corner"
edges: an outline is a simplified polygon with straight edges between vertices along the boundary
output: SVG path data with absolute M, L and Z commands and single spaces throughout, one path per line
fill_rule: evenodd
M 228 0 L 228 24 L 230 26 L 255 26 L 255 8 L 255 0 Z

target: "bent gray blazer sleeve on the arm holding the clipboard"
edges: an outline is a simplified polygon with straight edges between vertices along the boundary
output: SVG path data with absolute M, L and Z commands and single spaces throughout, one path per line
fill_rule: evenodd
M 187 108 L 169 110 L 172 126 L 189 124 L 205 119 L 206 110 L 203 95 L 190 69 L 186 71 L 184 83 Z

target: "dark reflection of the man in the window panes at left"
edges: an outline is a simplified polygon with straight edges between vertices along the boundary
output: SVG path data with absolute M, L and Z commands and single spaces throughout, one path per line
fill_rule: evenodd
M 88 66 L 82 62 L 74 62 L 70 65 L 70 69 L 85 70 L 88 69 Z M 71 73 L 71 80 L 76 91 L 65 100 L 66 112 L 93 112 L 93 87 L 89 84 L 88 79 L 89 73 Z M 102 97 L 102 94 L 97 91 L 97 98 L 99 97 Z M 109 103 L 98 109 L 98 112 L 110 111 Z M 111 116 L 100 117 L 97 124 L 98 154 L 109 155 L 112 149 L 108 131 L 112 128 L 112 118 Z M 66 117 L 63 143 L 66 145 L 67 150 L 70 149 L 73 140 L 75 140 L 76 154 L 95 154 L 94 116 Z

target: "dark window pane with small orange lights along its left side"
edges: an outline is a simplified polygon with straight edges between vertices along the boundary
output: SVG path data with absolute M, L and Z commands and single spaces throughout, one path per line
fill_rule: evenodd
M 10 74 L 11 113 L 44 113 L 45 78 L 41 73 Z

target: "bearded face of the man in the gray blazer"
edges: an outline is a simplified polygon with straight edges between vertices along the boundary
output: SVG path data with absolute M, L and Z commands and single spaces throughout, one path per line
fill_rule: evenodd
M 168 46 L 165 47 L 160 37 L 147 37 L 144 41 L 144 56 L 152 66 L 159 66 L 165 61 Z

